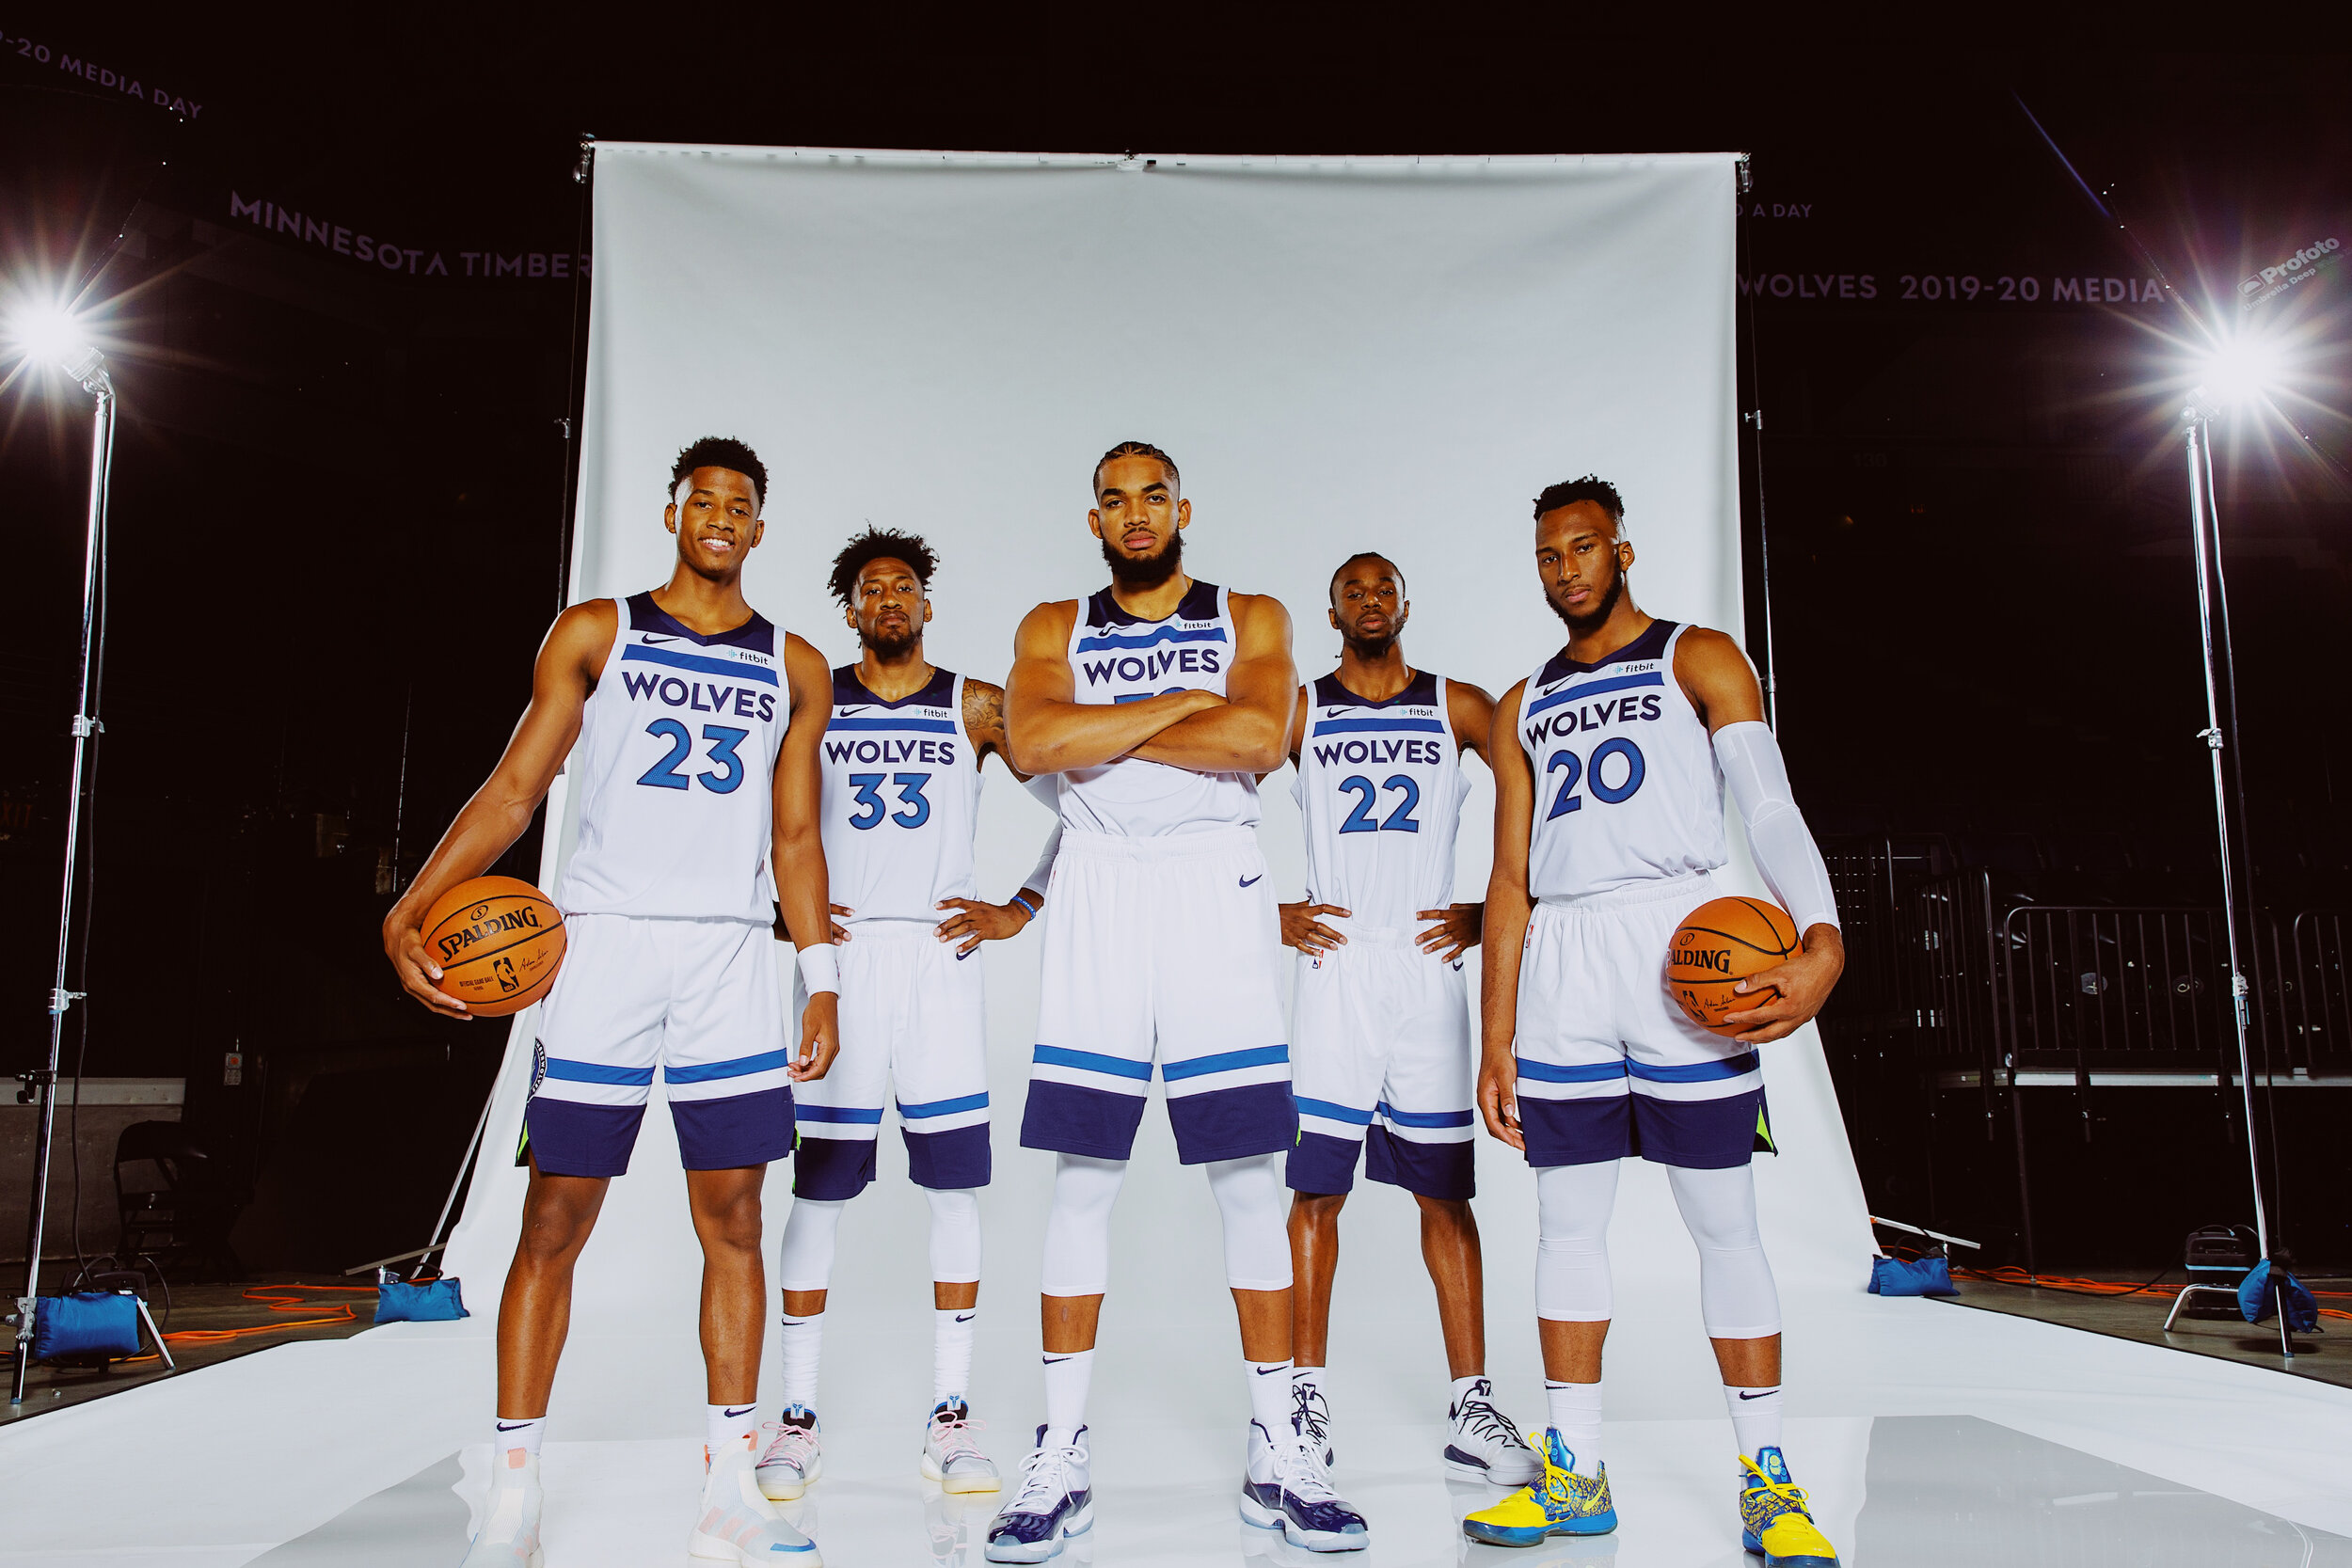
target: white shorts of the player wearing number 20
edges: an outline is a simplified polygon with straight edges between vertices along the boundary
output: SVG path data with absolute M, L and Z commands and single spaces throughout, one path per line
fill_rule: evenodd
M 1717 896 L 1691 872 L 1536 905 L 1512 1046 L 1526 1164 L 1639 1154 L 1710 1171 L 1771 1147 L 1755 1046 L 1708 1034 L 1665 994 L 1675 929 Z

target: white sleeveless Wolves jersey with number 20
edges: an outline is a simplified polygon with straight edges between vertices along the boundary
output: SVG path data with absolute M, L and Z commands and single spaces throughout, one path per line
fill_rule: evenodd
M 1519 696 L 1519 745 L 1536 771 L 1526 844 L 1531 898 L 1590 898 L 1724 863 L 1724 776 L 1675 682 L 1682 625 L 1649 630 L 1585 665 L 1555 654 Z

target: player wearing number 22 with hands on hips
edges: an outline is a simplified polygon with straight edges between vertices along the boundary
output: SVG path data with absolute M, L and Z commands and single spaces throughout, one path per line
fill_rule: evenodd
M 1494 698 L 1404 663 L 1404 574 L 1350 555 L 1331 574 L 1338 670 L 1298 689 L 1291 762 L 1308 835 L 1308 896 L 1282 905 L 1298 950 L 1289 1157 L 1291 1349 L 1298 1410 L 1329 1432 L 1322 1368 L 1338 1267 L 1338 1211 L 1364 1173 L 1414 1194 L 1437 1286 L 1454 1396 L 1446 1469 L 1524 1486 L 1543 1474 L 1486 1382 L 1486 1300 L 1470 1194 L 1470 997 L 1463 952 L 1482 905 L 1451 903 L 1463 750 L 1486 755 Z M 1319 903 L 1317 903 L 1319 900 Z M 1416 929 L 1416 922 L 1437 922 Z M 1329 1446 L 1324 1446 L 1329 1453 Z

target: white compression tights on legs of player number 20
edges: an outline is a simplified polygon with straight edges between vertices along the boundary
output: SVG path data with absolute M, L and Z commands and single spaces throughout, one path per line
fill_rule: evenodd
M 1762 1340 L 1780 1333 L 1780 1293 L 1757 1232 L 1755 1173 L 1748 1166 L 1668 1166 L 1665 1175 L 1682 1225 L 1698 1246 L 1698 1312 L 1708 1338 Z M 1536 1171 L 1536 1316 L 1562 1324 L 1611 1316 L 1609 1211 L 1616 1206 L 1616 1180 L 1613 1159 Z

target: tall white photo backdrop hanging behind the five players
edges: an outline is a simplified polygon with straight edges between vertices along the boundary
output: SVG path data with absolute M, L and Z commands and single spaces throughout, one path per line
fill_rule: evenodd
M 915 529 L 941 555 L 931 658 L 1002 679 L 1030 604 L 1103 583 L 1084 527 L 1089 473 L 1136 437 L 1183 465 L 1188 569 L 1279 595 L 1308 677 L 1338 651 L 1324 621 L 1331 567 L 1362 548 L 1406 571 L 1416 665 L 1491 691 L 1522 677 L 1562 637 L 1531 574 L 1529 498 L 1588 470 L 1625 494 L 1639 602 L 1740 630 L 1729 155 L 600 146 L 590 320 L 574 599 L 659 585 L 673 562 L 661 529 L 673 456 L 701 435 L 739 435 L 771 475 L 767 541 L 746 569 L 755 607 L 842 663 L 856 642 L 823 588 L 833 552 L 866 522 Z M 1268 780 L 1261 837 L 1294 898 L 1303 856 L 1287 778 Z M 1484 889 L 1489 799 L 1482 776 L 1461 844 L 1465 898 Z M 550 809 L 564 830 L 550 835 L 548 886 L 572 839 L 562 799 Z M 1011 891 L 1047 825 L 993 778 L 978 849 L 988 896 Z M 983 1206 L 983 1366 L 1007 1368 L 1004 1396 L 1030 1406 L 1051 1168 L 1018 1147 L 1035 938 L 990 945 L 988 985 L 997 1182 Z M 485 1314 L 515 1237 L 522 1173 L 506 1157 L 532 1027 L 524 1013 L 513 1032 L 492 1159 L 449 1251 Z M 1811 1030 L 1769 1053 L 1766 1077 L 1788 1150 L 1762 1168 L 1776 1262 L 1783 1279 L 1851 1288 L 1870 1241 Z M 633 1175 L 581 1262 L 583 1326 L 691 1324 L 699 1258 L 666 1121 L 659 1107 L 647 1117 Z M 929 1300 L 922 1204 L 903 1166 L 884 1131 L 882 1182 L 842 1227 L 835 1300 L 889 1335 L 894 1349 L 877 1340 L 875 1359 L 917 1363 Z M 1621 1276 L 1696 1279 L 1653 1178 L 1628 1173 Z M 1484 1138 L 1479 1182 L 1501 1356 L 1534 1338 L 1534 1182 Z M 769 1234 L 786 1204 L 779 1166 Z M 1399 1375 L 1442 1389 L 1411 1206 L 1369 1190 L 1345 1237 L 1336 1356 L 1352 1333 L 1409 1331 L 1430 1349 Z M 1686 1302 L 1675 1331 L 1703 1359 L 1696 1291 L 1672 1295 Z M 1214 1206 L 1200 1173 L 1174 1166 L 1152 1110 L 1120 1208 L 1105 1352 L 1141 1352 L 1129 1333 L 1181 1324 L 1230 1354 Z M 847 1387 L 866 1352 L 840 1324 L 833 1340 L 828 1387 Z M 579 1399 L 564 1389 L 590 1378 L 576 1361 L 557 1387 L 560 1420 Z M 1693 1387 L 1710 1382 L 1705 1368 Z M 1230 1394 L 1237 1420 L 1242 1392 Z M 699 1394 L 680 1387 L 677 1399 L 684 1429 Z

